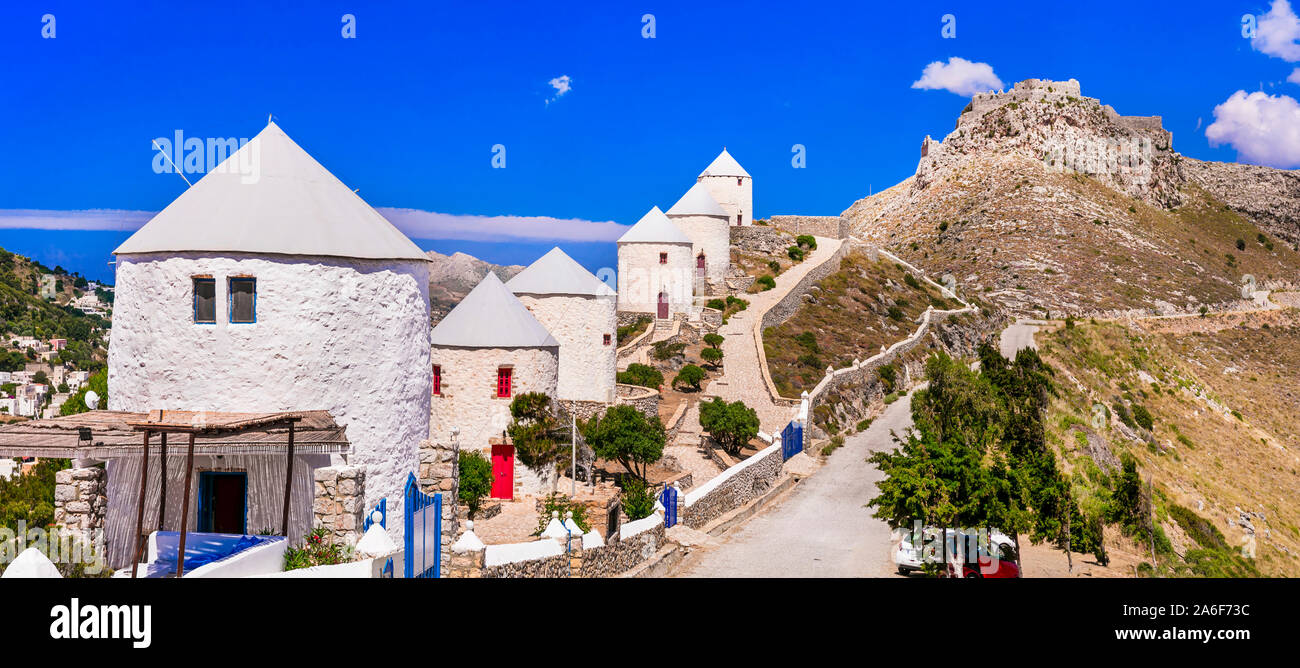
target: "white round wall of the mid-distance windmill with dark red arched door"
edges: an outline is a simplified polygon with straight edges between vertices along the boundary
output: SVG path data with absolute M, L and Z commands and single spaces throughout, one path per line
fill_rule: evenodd
M 690 311 L 696 257 L 689 243 L 620 243 L 619 311 L 655 313 L 659 291 L 668 292 L 668 315 Z M 659 253 L 668 264 L 659 264 Z

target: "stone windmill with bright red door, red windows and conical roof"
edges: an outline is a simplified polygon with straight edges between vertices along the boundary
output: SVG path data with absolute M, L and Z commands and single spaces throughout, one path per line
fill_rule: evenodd
M 556 395 L 560 343 L 497 274 L 488 276 L 430 335 L 429 438 L 491 456 L 491 496 L 512 499 L 546 483 L 506 442 L 510 404 L 528 392 Z

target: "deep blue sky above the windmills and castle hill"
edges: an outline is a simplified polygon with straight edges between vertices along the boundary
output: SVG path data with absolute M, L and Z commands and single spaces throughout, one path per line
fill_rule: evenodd
M 5 3 L 0 209 L 160 211 L 186 185 L 152 170 L 152 138 L 252 136 L 274 113 L 374 207 L 632 224 L 727 146 L 754 175 L 757 216 L 835 214 L 910 175 L 920 139 L 952 130 L 966 96 L 913 87 L 952 57 L 988 64 L 1006 87 L 1078 78 L 1123 114 L 1164 116 L 1192 157 L 1247 147 L 1245 160 L 1300 164 L 1300 144 L 1257 148 L 1286 148 L 1269 135 L 1286 129 L 1206 138 L 1236 91 L 1300 97 L 1288 32 L 1242 36 L 1243 14 L 1271 4 Z M 44 14 L 55 39 L 42 38 Z M 956 39 L 941 35 L 945 14 Z M 1295 118 L 1279 104 L 1258 122 Z M 794 144 L 805 169 L 792 168 Z M 589 268 L 612 265 L 607 233 L 555 229 Z M 127 234 L 0 224 L 0 247 L 108 278 Z M 417 243 L 526 263 L 555 240 L 506 237 Z

